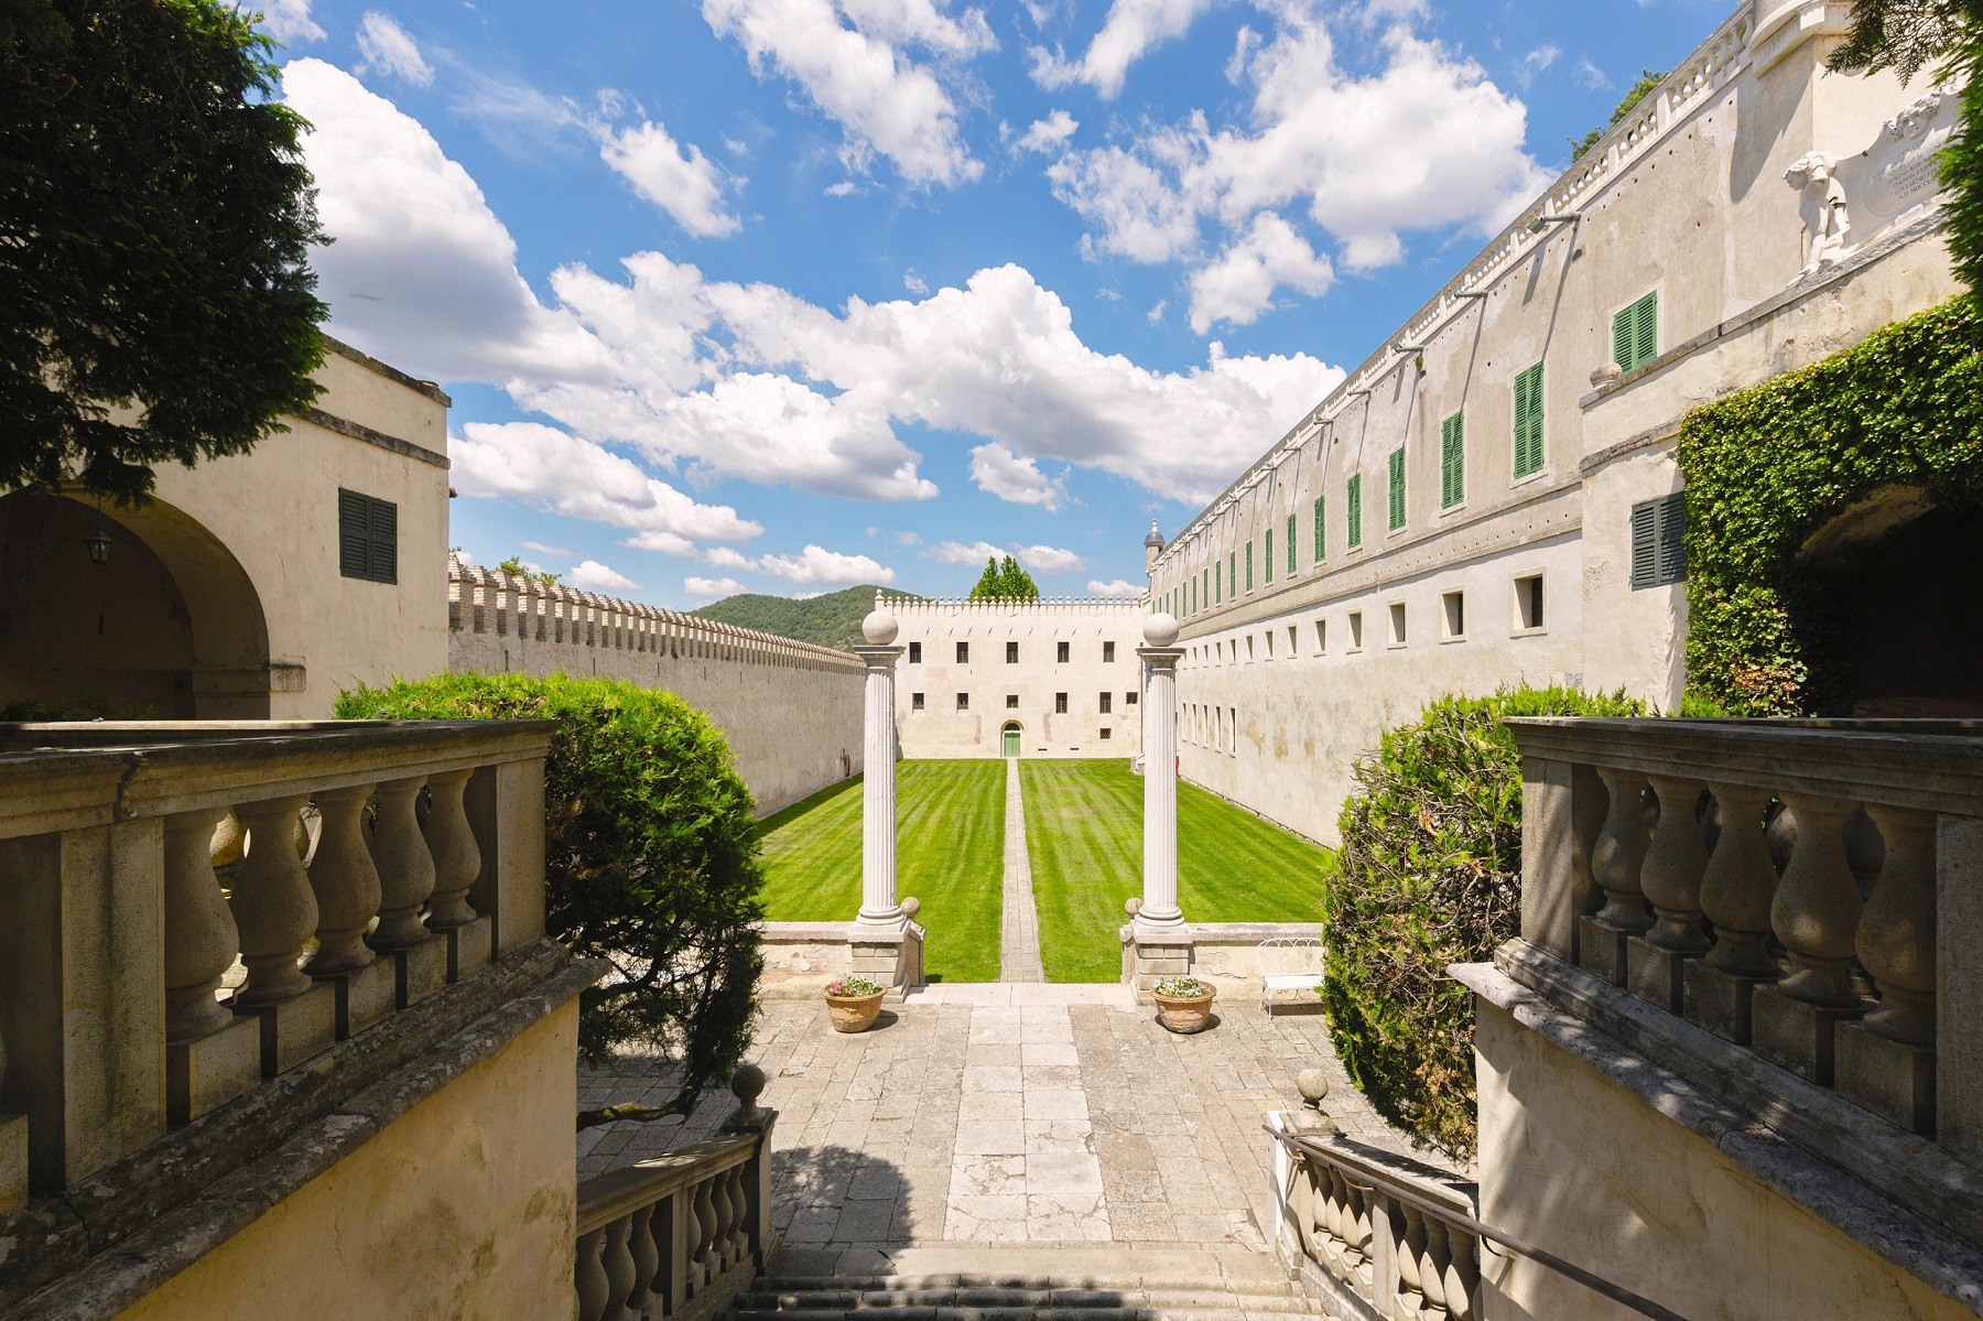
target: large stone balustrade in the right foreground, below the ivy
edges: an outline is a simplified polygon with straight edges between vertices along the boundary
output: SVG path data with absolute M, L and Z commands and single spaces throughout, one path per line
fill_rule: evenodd
M 1580 968 L 1983 1158 L 1983 724 L 1509 726 L 1523 948 L 1505 962 Z

